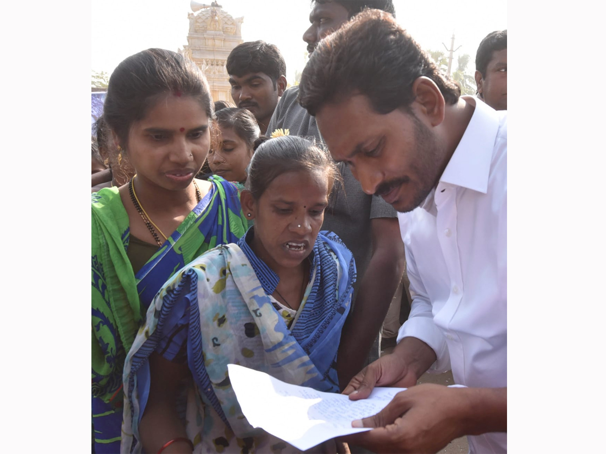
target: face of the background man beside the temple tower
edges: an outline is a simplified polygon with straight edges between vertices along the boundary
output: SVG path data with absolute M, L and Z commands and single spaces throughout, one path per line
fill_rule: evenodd
M 265 73 L 248 73 L 242 77 L 229 76 L 231 99 L 235 104 L 249 110 L 258 122 L 268 120 L 278 104 L 278 88 L 274 88 L 271 77 Z

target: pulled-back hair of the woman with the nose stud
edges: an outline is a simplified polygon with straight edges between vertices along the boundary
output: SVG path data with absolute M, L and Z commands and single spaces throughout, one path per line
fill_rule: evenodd
M 298 136 L 281 136 L 257 139 L 258 146 L 247 167 L 246 189 L 258 200 L 271 182 L 283 173 L 296 171 L 325 172 L 328 178 L 328 192 L 335 180 L 341 179 L 335 161 L 327 150 L 310 140 Z

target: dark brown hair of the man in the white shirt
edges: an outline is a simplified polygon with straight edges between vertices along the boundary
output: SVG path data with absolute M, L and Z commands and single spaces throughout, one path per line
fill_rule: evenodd
M 412 85 L 421 76 L 438 85 L 447 104 L 456 104 L 461 90 L 393 16 L 364 10 L 319 42 L 303 70 L 299 102 L 315 115 L 322 105 L 359 93 L 387 114 L 415 100 Z

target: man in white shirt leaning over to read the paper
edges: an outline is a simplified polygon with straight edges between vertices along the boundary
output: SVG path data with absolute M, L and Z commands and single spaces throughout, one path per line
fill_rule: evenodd
M 370 57 L 369 57 L 370 56 Z M 391 16 L 362 12 L 316 48 L 299 100 L 367 194 L 399 213 L 413 304 L 393 354 L 344 393 L 402 386 L 350 441 L 438 452 L 468 437 L 507 451 L 507 112 L 460 97 Z M 427 370 L 457 384 L 415 386 Z

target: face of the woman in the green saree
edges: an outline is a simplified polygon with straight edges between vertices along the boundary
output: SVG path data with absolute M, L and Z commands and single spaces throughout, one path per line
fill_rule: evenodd
M 208 116 L 191 96 L 161 96 L 128 133 L 126 154 L 137 179 L 181 190 L 202 168 L 210 147 Z

